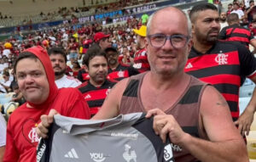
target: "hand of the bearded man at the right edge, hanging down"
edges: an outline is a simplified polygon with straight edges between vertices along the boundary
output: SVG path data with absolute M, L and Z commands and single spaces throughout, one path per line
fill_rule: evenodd
M 235 125 L 238 126 L 238 129 L 241 132 L 241 136 L 244 136 L 245 133 L 247 136 L 249 135 L 250 127 L 253 123 L 253 115 L 253 108 L 248 106 L 238 120 L 235 121 Z

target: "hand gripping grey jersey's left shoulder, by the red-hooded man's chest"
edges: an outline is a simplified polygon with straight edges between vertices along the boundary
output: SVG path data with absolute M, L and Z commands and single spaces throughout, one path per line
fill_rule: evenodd
M 49 115 L 42 115 L 41 122 L 38 124 L 37 133 L 39 137 L 46 138 L 48 133 L 48 127 L 53 122 L 54 115 L 57 115 L 58 112 L 55 109 L 49 110 Z

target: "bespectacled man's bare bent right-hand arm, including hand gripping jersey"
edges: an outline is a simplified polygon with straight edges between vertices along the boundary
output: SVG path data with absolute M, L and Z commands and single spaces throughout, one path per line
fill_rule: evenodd
M 207 87 L 201 98 L 201 129 L 209 141 L 185 133 L 172 115 L 154 116 L 154 130 L 165 139 L 189 151 L 195 158 L 207 162 L 248 161 L 247 148 L 234 126 L 228 104 L 213 87 Z

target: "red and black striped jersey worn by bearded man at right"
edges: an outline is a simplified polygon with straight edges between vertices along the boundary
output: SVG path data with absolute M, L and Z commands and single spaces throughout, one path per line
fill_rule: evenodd
M 217 42 L 207 53 L 199 53 L 192 47 L 184 70 L 218 89 L 230 106 L 233 120 L 238 119 L 241 79 L 256 75 L 256 59 L 246 47 Z

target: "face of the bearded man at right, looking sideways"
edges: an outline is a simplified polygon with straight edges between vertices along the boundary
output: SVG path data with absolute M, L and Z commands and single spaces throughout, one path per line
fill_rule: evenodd
M 192 33 L 195 41 L 202 44 L 212 44 L 218 40 L 220 29 L 218 11 L 207 9 L 197 14 L 192 24 Z

